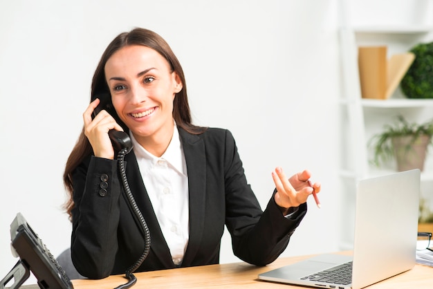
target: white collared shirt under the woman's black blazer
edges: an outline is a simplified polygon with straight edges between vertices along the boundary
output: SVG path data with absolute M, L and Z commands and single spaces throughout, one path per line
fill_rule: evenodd
M 146 151 L 131 133 L 133 151 L 147 194 L 173 262 L 180 265 L 189 240 L 188 176 L 178 129 L 160 158 Z

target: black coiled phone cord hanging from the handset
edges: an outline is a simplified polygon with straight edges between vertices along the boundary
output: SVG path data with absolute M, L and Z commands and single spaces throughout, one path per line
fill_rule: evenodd
M 125 171 L 125 162 L 124 162 L 125 155 L 127 153 L 128 153 L 128 150 L 125 148 L 121 149 L 119 151 L 119 153 L 118 153 L 118 168 L 119 168 L 120 178 L 122 178 L 122 185 L 123 185 L 123 188 L 125 189 L 125 193 L 127 194 L 128 201 L 132 206 L 134 214 L 136 214 L 138 220 L 140 221 L 140 225 L 142 227 L 142 230 L 145 232 L 145 250 L 142 252 L 140 258 L 136 261 L 136 263 L 133 263 L 133 265 L 131 265 L 131 267 L 129 267 L 127 269 L 127 272 L 125 273 L 125 275 L 126 275 L 127 279 L 129 279 L 128 283 L 120 285 L 120 286 L 116 287 L 115 289 L 130 288 L 131 286 L 133 286 L 136 283 L 137 278 L 132 273 L 135 270 L 137 270 L 138 267 L 140 267 L 140 265 L 143 261 L 145 261 L 147 254 L 149 254 L 149 251 L 150 251 L 149 228 L 147 227 L 147 223 L 145 221 L 145 218 L 142 216 L 140 209 L 138 208 L 136 201 L 133 198 L 133 195 L 131 193 L 131 189 L 129 189 L 127 174 Z

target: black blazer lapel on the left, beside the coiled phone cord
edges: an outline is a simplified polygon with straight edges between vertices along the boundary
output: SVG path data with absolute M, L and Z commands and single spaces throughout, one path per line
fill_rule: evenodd
M 140 208 L 143 218 L 145 218 L 147 226 L 149 227 L 151 240 L 150 250 L 154 252 L 166 268 L 174 268 L 174 263 L 167 242 L 164 239 L 163 232 L 160 229 L 158 219 L 154 212 L 154 207 L 151 205 L 145 184 L 142 181 L 137 158 L 133 153 L 127 154 L 125 158 L 128 161 L 127 177 L 129 180 L 129 187 L 131 188 L 133 197 Z M 133 212 L 131 213 L 134 218 L 136 218 L 135 214 Z M 136 221 L 138 221 L 138 219 Z

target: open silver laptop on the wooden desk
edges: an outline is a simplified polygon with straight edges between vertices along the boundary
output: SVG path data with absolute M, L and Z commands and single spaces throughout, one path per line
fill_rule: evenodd
M 353 256 L 319 254 L 259 274 L 259 279 L 315 288 L 359 289 L 412 269 L 420 174 L 419 169 L 412 169 L 358 182 Z M 346 266 L 346 281 L 321 273 Z

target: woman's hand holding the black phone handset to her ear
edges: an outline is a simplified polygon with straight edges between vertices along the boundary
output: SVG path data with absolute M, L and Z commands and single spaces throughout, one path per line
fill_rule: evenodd
M 123 129 L 116 120 L 104 110 L 100 111 L 92 120 L 92 113 L 99 103 L 100 100 L 98 98 L 93 100 L 83 113 L 84 135 L 89 139 L 95 156 L 113 160 L 114 149 L 113 145 L 111 145 L 108 132 L 111 129 L 116 129 L 116 131 L 123 131 Z

